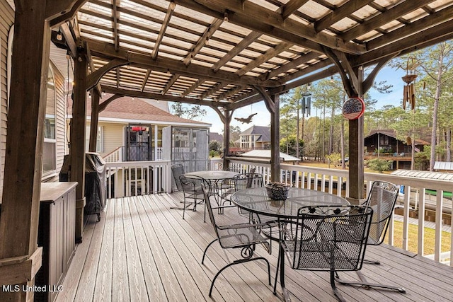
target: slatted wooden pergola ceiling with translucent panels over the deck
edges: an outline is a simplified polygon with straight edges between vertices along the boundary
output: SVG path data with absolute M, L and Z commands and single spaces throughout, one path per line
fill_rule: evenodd
M 336 74 L 332 52 L 353 68 L 448 40 L 452 19 L 451 0 L 91 0 L 62 26 L 113 66 L 103 91 L 234 109 Z

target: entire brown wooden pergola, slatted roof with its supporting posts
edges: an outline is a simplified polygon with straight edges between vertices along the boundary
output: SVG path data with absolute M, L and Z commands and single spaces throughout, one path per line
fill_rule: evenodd
M 280 93 L 340 74 L 348 95 L 361 96 L 389 59 L 453 36 L 450 0 L 15 0 L 14 4 L 8 129 L 21 135 L 6 141 L 0 279 L 4 272 L 14 272 L 17 284 L 33 284 L 40 266 L 36 242 L 51 40 L 66 48 L 75 62 L 71 181 L 79 182 L 76 198 L 83 204 L 87 91 L 93 96 L 93 131 L 97 113 L 111 100 L 142 96 L 210 106 L 224 122 L 226 148 L 234 110 L 264 100 L 270 112 L 272 180 L 277 180 Z M 372 69 L 366 79 L 365 67 Z M 99 102 L 102 92 L 113 97 Z M 350 197 L 361 199 L 362 117 L 349 122 L 349 141 Z M 81 225 L 78 229 L 81 232 Z M 24 257 L 25 262 L 14 261 Z M 9 294 L 24 300 L 27 293 Z

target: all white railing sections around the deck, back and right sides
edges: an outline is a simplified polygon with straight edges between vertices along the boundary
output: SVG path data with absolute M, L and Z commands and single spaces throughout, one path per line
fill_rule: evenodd
M 211 163 L 211 169 L 219 168 L 219 160 Z M 246 173 L 251 168 L 256 168 L 256 173 L 262 173 L 265 183 L 270 181 L 270 164 L 252 160 L 239 161 L 230 160 L 230 167 L 237 171 Z M 171 192 L 171 162 L 170 161 L 130 161 L 120 163 L 106 163 L 108 198 L 137 196 L 156 192 Z M 311 190 L 320 190 L 337 194 L 342 197 L 349 197 L 348 191 L 348 170 L 337 170 L 328 168 L 312 168 L 304 165 L 280 165 L 280 181 L 290 183 L 294 187 L 306 187 Z M 436 262 L 445 259 L 445 251 L 441 252 L 442 243 L 442 217 L 452 213 L 452 200 L 442 198 L 443 190 L 453 190 L 451 180 L 429 180 L 414 178 L 410 176 L 389 175 L 382 173 L 365 173 L 365 184 L 367 192 L 374 180 L 393 182 L 396 185 L 403 185 L 405 192 L 398 198 L 398 207 L 403 209 L 403 234 L 401 236 L 402 248 L 408 250 L 409 238 L 409 213 L 418 211 L 425 213 L 425 209 L 435 212 L 435 246 L 433 258 Z M 427 190 L 436 190 L 435 200 L 430 199 L 426 194 Z M 450 248 L 448 254 L 452 257 L 453 236 L 450 232 Z M 394 219 L 389 225 L 388 243 L 394 245 Z M 418 255 L 424 255 L 425 245 L 425 219 L 424 215 L 418 215 Z M 428 256 L 428 255 L 427 255 Z M 447 257 L 448 258 L 448 257 Z

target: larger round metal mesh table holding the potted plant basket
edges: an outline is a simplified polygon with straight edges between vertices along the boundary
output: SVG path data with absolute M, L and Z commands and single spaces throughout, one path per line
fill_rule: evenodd
M 348 200 L 334 194 L 296 187 L 289 188 L 288 197 L 285 201 L 270 199 L 265 187 L 255 187 L 235 192 L 231 195 L 231 201 L 246 211 L 275 218 L 279 231 L 281 231 L 282 227 L 280 221 L 297 219 L 297 211 L 300 207 L 349 204 Z M 278 238 L 273 237 L 271 232 L 270 238 L 279 241 L 280 285 L 282 286 L 285 301 L 290 301 L 285 288 L 285 250 L 283 250 L 283 246 L 280 243 L 280 236 Z M 277 275 L 275 276 L 274 294 L 276 294 L 276 286 Z

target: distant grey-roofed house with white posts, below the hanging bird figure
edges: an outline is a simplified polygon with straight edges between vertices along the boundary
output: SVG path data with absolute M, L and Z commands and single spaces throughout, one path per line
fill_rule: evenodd
M 252 126 L 239 134 L 239 148 L 243 151 L 270 149 L 270 127 Z

